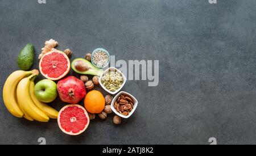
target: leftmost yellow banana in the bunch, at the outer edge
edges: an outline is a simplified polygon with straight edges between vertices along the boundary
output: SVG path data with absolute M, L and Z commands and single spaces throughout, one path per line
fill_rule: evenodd
M 14 71 L 6 79 L 5 85 L 3 86 L 3 102 L 5 103 L 8 111 L 16 117 L 23 117 L 24 115 L 23 111 L 20 109 L 18 103 L 16 102 L 16 87 L 18 86 L 18 83 L 22 78 L 31 74 L 32 71 Z

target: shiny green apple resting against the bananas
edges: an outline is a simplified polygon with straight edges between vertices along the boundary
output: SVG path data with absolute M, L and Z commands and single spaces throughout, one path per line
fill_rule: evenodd
M 52 102 L 58 95 L 56 83 L 50 79 L 39 81 L 35 85 L 35 95 L 40 102 Z

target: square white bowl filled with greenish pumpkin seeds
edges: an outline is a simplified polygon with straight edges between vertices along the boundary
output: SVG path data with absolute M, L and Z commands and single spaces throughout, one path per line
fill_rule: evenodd
M 126 77 L 120 70 L 110 67 L 102 73 L 98 81 L 105 91 L 110 94 L 117 94 L 125 85 Z

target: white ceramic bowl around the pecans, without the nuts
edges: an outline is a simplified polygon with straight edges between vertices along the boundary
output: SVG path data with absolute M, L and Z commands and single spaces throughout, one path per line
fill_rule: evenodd
M 121 95 L 121 94 L 125 94 L 125 95 L 130 96 L 130 97 L 133 99 L 133 101 L 134 101 L 133 109 L 131 109 L 131 112 L 130 112 L 129 115 L 127 115 L 127 116 L 124 116 L 124 115 L 122 115 L 121 113 L 117 112 L 117 110 L 115 110 L 115 108 L 114 108 L 114 103 L 115 103 L 115 101 L 117 100 L 117 98 L 119 97 L 119 95 Z M 129 118 L 129 117 L 134 113 L 134 111 L 135 111 L 135 109 L 137 108 L 137 106 L 138 106 L 138 100 L 135 99 L 133 95 L 129 94 L 128 92 L 121 91 L 121 92 L 119 92 L 117 95 L 115 95 L 115 97 L 114 97 L 114 99 L 112 100 L 112 103 L 111 103 L 111 105 L 110 105 L 110 108 L 112 109 L 112 111 L 113 111 L 116 115 L 118 115 L 118 116 L 120 116 L 120 117 L 123 117 L 123 118 Z

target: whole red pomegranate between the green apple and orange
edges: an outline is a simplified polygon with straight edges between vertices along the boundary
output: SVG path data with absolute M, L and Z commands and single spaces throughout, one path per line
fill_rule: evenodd
M 57 90 L 60 99 L 67 103 L 78 103 L 86 95 L 84 82 L 73 76 L 61 79 L 57 83 Z

